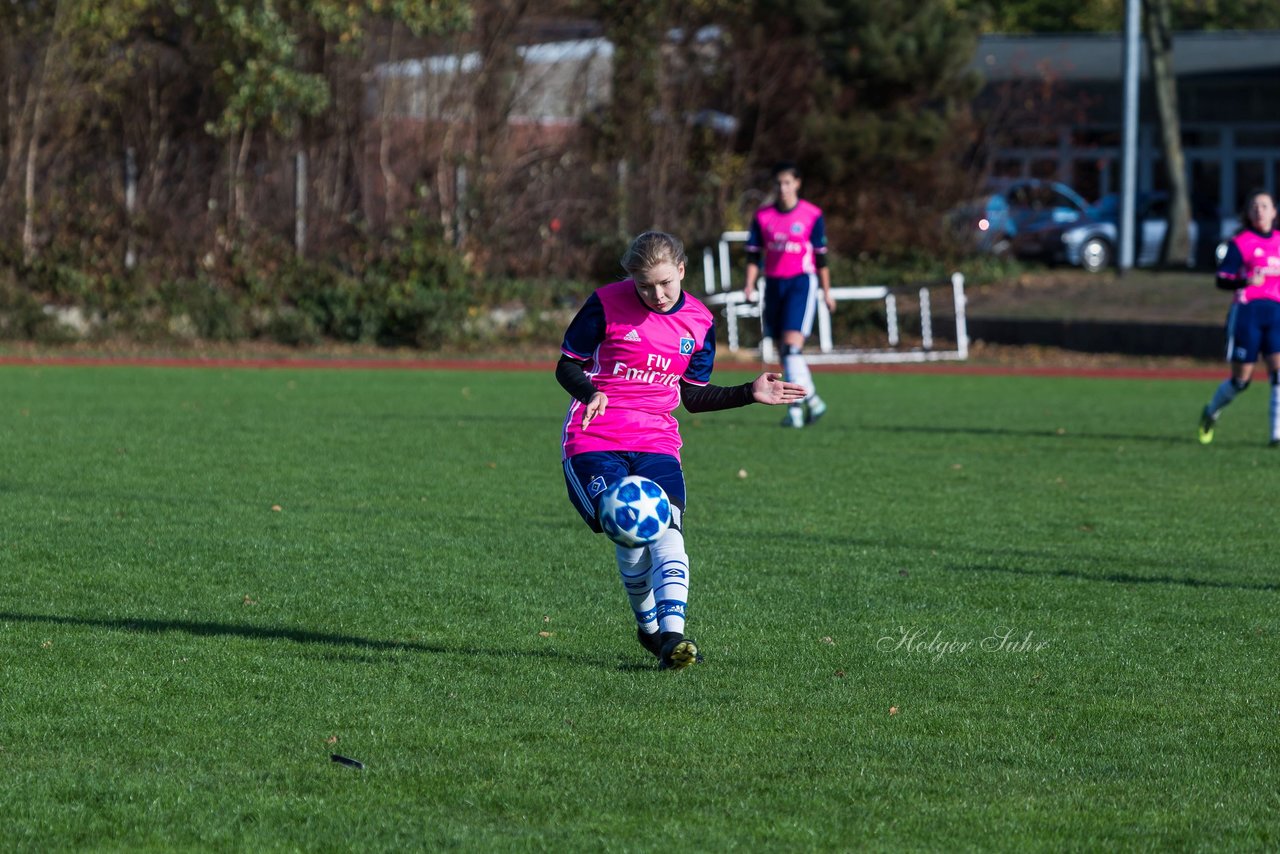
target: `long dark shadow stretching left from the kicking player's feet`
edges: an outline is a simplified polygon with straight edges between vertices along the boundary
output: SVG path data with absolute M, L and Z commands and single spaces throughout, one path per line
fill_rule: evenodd
M 480 649 L 476 647 L 448 647 L 444 644 L 424 644 L 413 640 L 379 640 L 358 635 L 328 634 L 306 629 L 287 629 L 282 626 L 250 626 L 230 622 L 196 622 L 193 620 L 106 620 L 102 617 L 64 617 L 46 613 L 13 613 L 0 611 L 0 622 L 40 622 L 59 626 L 83 626 L 106 629 L 109 631 L 132 631 L 143 634 L 164 634 L 180 631 L 196 638 L 244 638 L 248 640 L 292 640 L 297 644 L 317 644 L 325 647 L 353 647 L 375 652 L 411 652 L 452 656 L 493 656 L 495 658 L 529 657 L 559 658 L 579 665 L 599 665 L 600 658 L 577 656 L 557 649 Z

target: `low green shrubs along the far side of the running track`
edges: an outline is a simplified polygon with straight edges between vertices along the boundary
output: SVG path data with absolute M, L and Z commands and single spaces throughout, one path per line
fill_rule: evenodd
M 300 260 L 284 242 L 242 242 L 174 271 L 161 261 L 125 270 L 101 257 L 49 251 L 35 262 L 0 247 L 0 338 L 74 341 L 326 342 L 422 351 L 554 347 L 599 282 L 481 277 L 436 228 L 417 220 L 383 241 Z M 946 282 L 954 262 L 919 256 L 895 265 L 840 259 L 837 284 Z M 970 260 L 972 284 L 1016 275 L 1007 262 Z M 701 271 L 686 287 L 701 292 Z M 878 309 L 845 306 L 842 335 L 883 324 Z M 750 332 L 748 332 L 750 335 Z

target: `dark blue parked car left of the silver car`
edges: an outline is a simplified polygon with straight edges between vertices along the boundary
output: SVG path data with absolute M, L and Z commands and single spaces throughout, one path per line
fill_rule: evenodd
M 979 252 L 1009 254 L 1018 234 L 1079 222 L 1089 207 L 1078 192 L 1057 181 L 1002 178 L 986 189 L 950 215 L 957 237 L 972 241 Z

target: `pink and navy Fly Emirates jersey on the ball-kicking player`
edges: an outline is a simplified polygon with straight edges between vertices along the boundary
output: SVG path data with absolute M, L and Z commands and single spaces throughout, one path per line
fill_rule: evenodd
M 667 312 L 646 306 L 623 279 L 588 297 L 564 332 L 561 352 L 590 364 L 586 375 L 609 398 L 604 415 L 582 429 L 584 403 L 564 417 L 564 458 L 589 451 L 644 451 L 680 458 L 680 382 L 710 383 L 716 318 L 681 293 Z

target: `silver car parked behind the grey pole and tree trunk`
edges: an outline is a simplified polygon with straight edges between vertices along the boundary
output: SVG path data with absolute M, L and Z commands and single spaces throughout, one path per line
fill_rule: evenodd
M 1155 266 L 1164 252 L 1169 233 L 1169 195 L 1139 193 L 1135 210 L 1134 266 Z M 1042 224 L 1024 229 L 1012 251 L 1023 259 L 1079 266 L 1098 273 L 1115 265 L 1120 246 L 1120 197 L 1110 193 L 1091 205 L 1080 222 L 1070 225 Z M 1230 237 L 1233 223 L 1216 213 L 1196 207 L 1189 224 L 1190 250 L 1187 266 L 1212 266 L 1221 257 L 1222 241 Z

